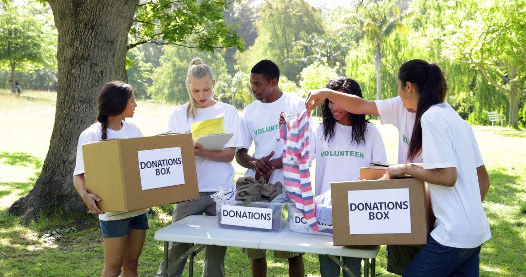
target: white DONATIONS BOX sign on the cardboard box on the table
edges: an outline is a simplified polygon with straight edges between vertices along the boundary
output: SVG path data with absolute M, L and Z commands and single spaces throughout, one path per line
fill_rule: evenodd
M 349 190 L 351 235 L 411 233 L 409 188 Z

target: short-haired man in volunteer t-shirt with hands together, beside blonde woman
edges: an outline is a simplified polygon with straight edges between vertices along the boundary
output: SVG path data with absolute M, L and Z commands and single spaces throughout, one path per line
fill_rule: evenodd
M 256 101 L 250 103 L 241 115 L 243 147 L 236 153 L 236 161 L 247 168 L 245 176 L 256 179 L 264 177 L 268 183 L 284 183 L 282 154 L 284 142 L 279 137 L 281 112 L 297 114 L 305 110 L 305 101 L 296 94 L 282 92 L 278 87 L 279 68 L 270 60 L 262 60 L 252 68 L 250 83 Z M 248 149 L 254 141 L 256 151 L 252 156 Z M 266 276 L 265 250 L 243 249 L 250 259 L 252 275 Z M 274 251 L 276 258 L 287 258 L 290 276 L 304 276 L 303 253 Z

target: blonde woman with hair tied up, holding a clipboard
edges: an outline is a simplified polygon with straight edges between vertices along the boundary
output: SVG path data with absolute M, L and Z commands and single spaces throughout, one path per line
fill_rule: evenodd
M 206 151 L 203 146 L 196 144 L 197 183 L 199 199 L 175 204 L 172 222 L 176 222 L 190 215 L 216 215 L 216 203 L 211 195 L 219 187 L 234 187 L 234 167 L 231 162 L 236 154 L 236 148 L 243 146 L 240 136 L 239 115 L 237 109 L 229 104 L 218 102 L 214 96 L 214 73 L 212 69 L 195 58 L 190 62 L 186 77 L 186 84 L 190 101 L 178 106 L 171 113 L 168 129 L 173 133 L 191 131 L 193 122 L 222 118 L 225 131 L 234 136 L 221 151 Z M 168 248 L 168 261 L 173 262 L 190 249 L 189 243 L 171 243 Z M 223 246 L 207 246 L 205 248 L 204 276 L 225 276 L 225 253 Z M 179 263 L 168 275 L 181 276 L 185 269 L 186 260 Z M 160 276 L 163 263 L 160 264 L 157 275 Z

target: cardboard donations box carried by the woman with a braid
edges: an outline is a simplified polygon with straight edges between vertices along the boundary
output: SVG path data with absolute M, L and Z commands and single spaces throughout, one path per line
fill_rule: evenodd
M 102 211 L 199 198 L 192 135 L 163 134 L 82 145 L 86 188 Z

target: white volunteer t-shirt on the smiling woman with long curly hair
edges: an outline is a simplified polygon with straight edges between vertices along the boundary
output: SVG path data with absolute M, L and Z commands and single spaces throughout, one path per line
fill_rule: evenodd
M 351 142 L 352 126 L 336 122 L 330 141 L 323 137 L 323 124 L 316 124 L 310 133 L 310 154 L 316 158 L 316 191 L 321 195 L 330 189 L 331 182 L 360 179 L 360 167 L 371 162 L 386 163 L 386 147 L 375 125 L 367 123 L 365 144 Z

